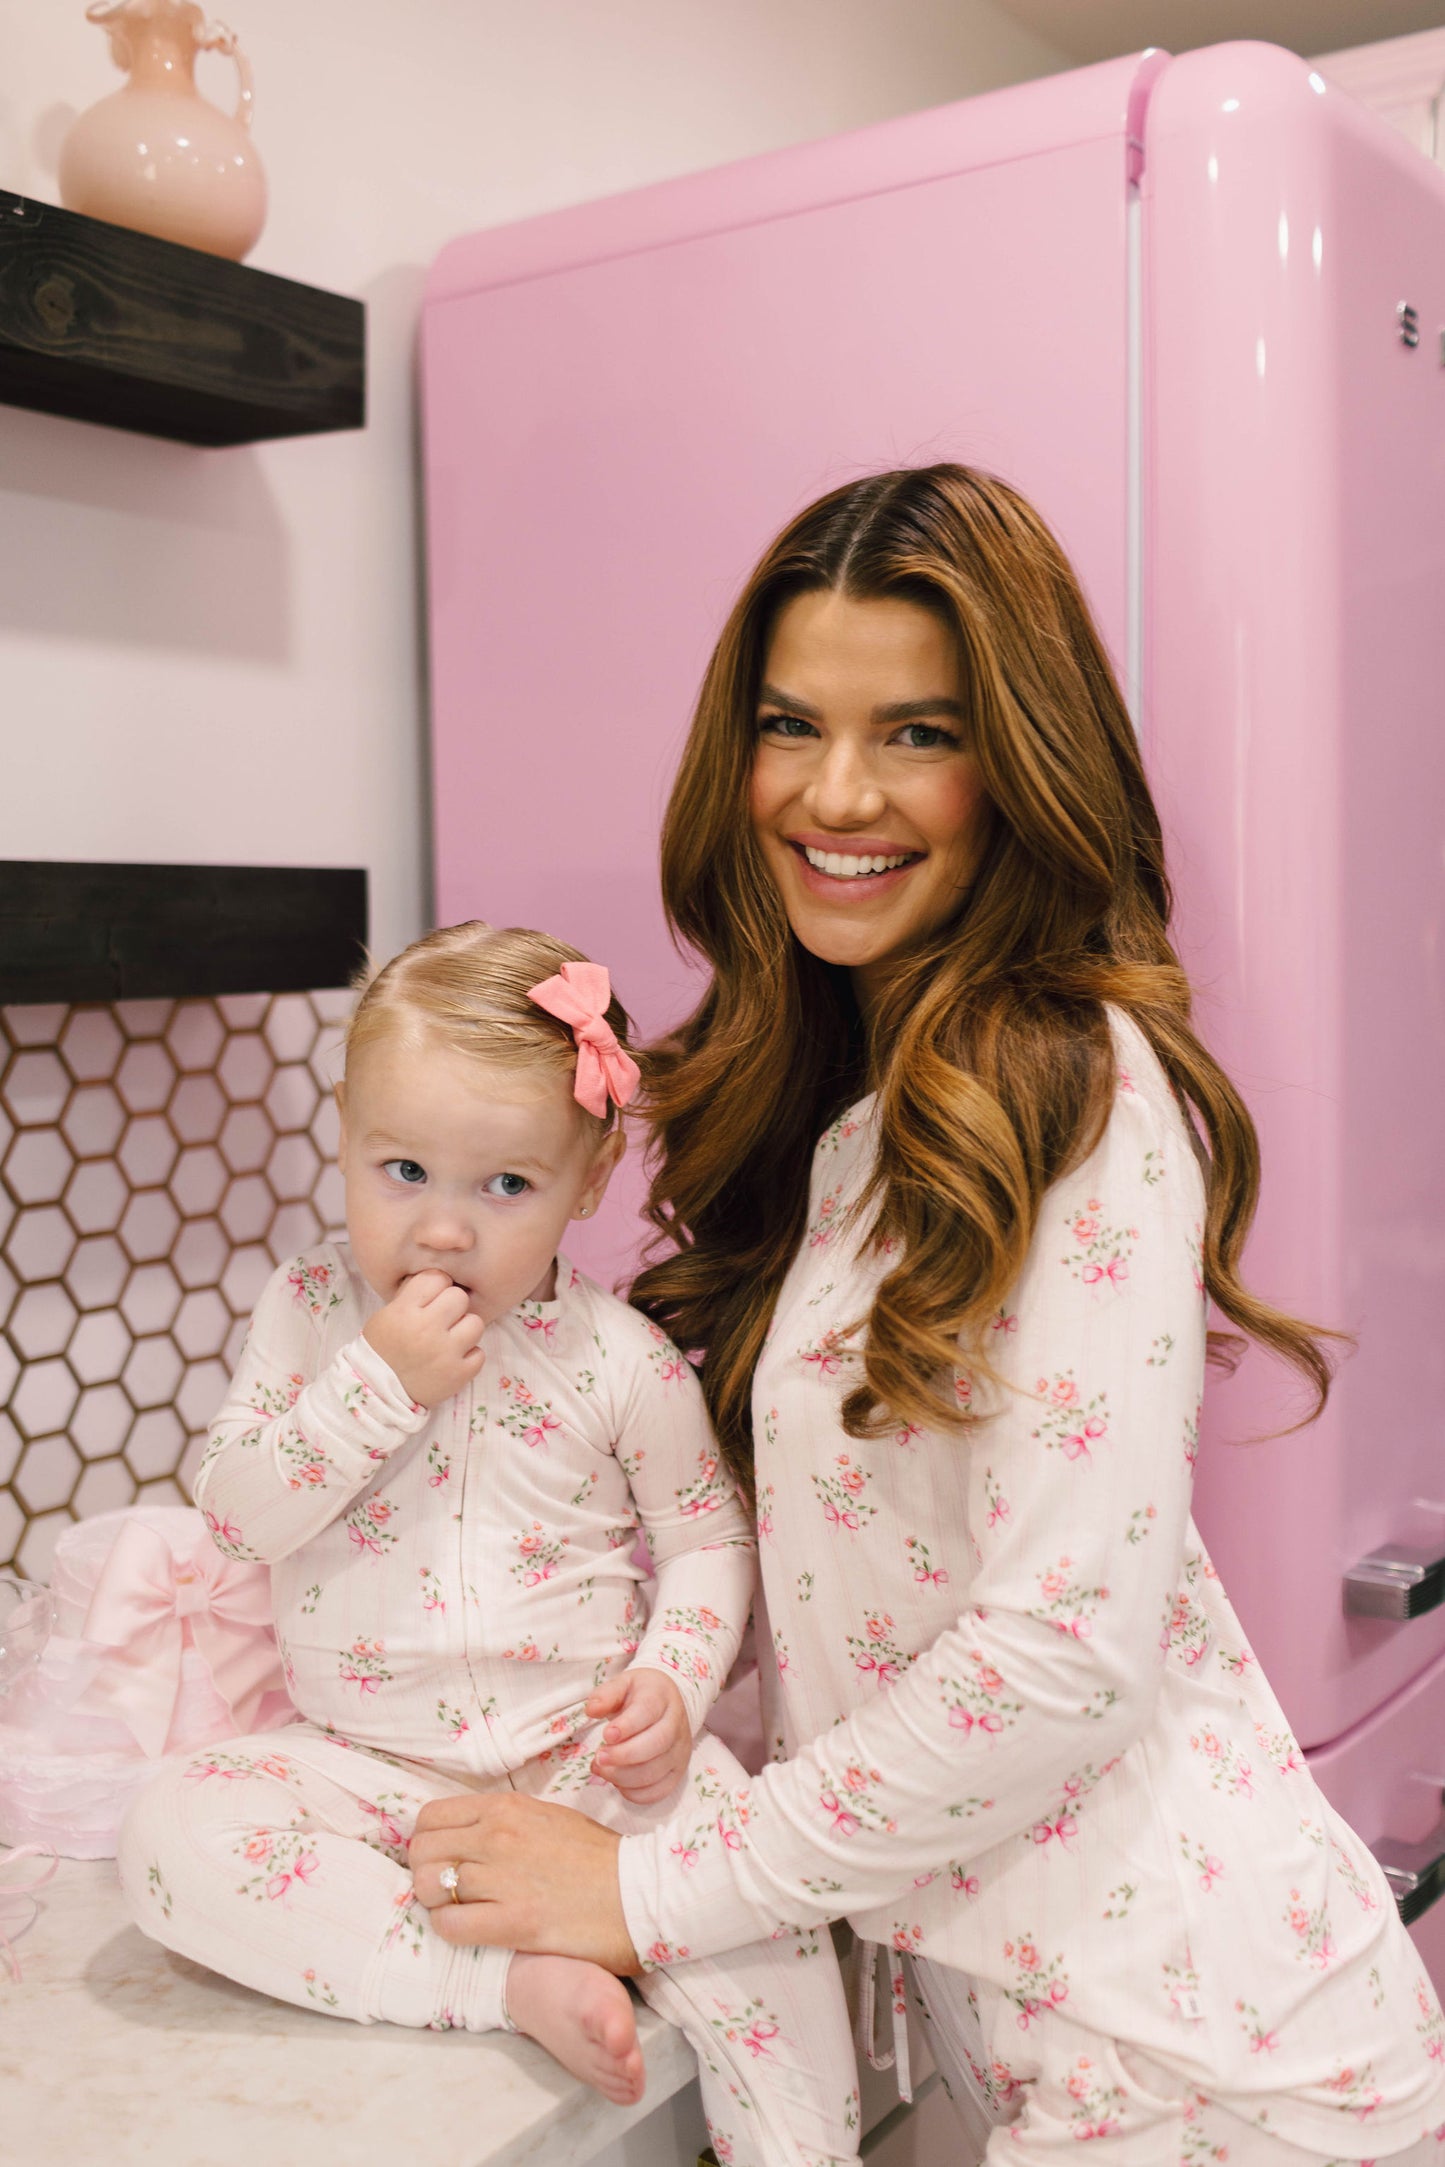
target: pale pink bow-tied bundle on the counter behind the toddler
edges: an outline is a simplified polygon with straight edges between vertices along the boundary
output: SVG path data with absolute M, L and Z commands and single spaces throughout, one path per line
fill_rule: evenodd
M 269 1588 L 264 1565 L 219 1558 L 188 1506 L 69 1528 L 50 1645 L 0 1699 L 0 1844 L 110 1859 L 162 1753 L 290 1723 Z M 87 1623 L 104 1638 L 87 1638 Z

